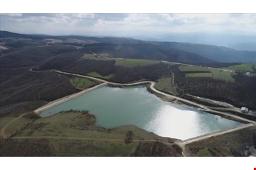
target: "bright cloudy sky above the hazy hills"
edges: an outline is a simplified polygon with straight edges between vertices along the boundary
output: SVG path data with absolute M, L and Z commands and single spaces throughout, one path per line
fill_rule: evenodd
M 145 36 L 177 33 L 256 35 L 256 14 L 1 14 L 1 30 L 27 34 Z

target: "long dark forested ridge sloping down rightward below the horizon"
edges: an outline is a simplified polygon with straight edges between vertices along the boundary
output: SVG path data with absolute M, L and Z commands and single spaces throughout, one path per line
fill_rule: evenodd
M 7 39 L 7 36 L 10 36 Z M 26 38 L 29 41 L 24 43 Z M 47 40 L 51 40 L 50 43 Z M 69 58 L 82 57 L 84 53 L 108 53 L 114 58 L 136 58 L 150 60 L 167 60 L 178 63 L 215 63 L 198 54 L 184 50 L 166 48 L 147 41 L 132 38 L 90 38 L 81 36 L 50 36 L 50 35 L 20 35 L 11 32 L 1 32 L 0 43 L 10 49 L 1 55 L 1 67 L 18 67 L 38 64 L 39 61 L 57 57 L 58 54 L 73 52 Z M 14 44 L 14 45 L 13 45 Z M 78 55 L 78 56 L 77 56 Z M 60 59 L 60 57 L 58 57 Z M 68 56 L 66 56 L 68 58 Z M 61 59 L 60 59 L 61 60 Z M 25 64 L 26 63 L 26 64 Z

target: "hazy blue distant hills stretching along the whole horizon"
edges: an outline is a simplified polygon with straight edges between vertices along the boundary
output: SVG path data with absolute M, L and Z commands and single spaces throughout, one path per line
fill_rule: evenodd
M 7 40 L 8 38 L 14 39 Z M 18 38 L 21 40 L 18 40 Z M 22 38 L 25 39 L 23 40 Z M 54 46 L 38 48 L 38 46 L 45 46 L 46 40 L 49 39 L 55 40 Z M 65 49 L 65 46 L 68 45 L 69 48 Z M 70 49 L 70 45 L 80 46 L 80 48 Z M 21 55 L 23 57 L 29 56 L 31 59 L 35 56 L 37 61 L 39 61 L 38 58 L 43 56 L 38 56 L 36 53 L 45 54 L 45 52 L 41 52 L 41 50 L 54 51 L 54 53 L 51 54 L 52 57 L 65 51 L 72 52 L 74 50 L 76 52 L 72 53 L 80 55 L 86 52 L 88 53 L 91 50 L 96 53 L 109 53 L 112 54 L 113 57 L 167 60 L 190 64 L 256 63 L 256 52 L 239 51 L 224 46 L 136 40 L 134 38 L 98 38 L 75 35 L 23 35 L 0 31 L 0 46 L 10 49 L 8 52 L 5 51 L 4 58 L 14 57 L 17 59 L 18 55 Z M 24 47 L 26 48 L 22 49 Z M 1 60 L 1 64 L 7 61 L 8 63 L 11 62 L 11 58 L 4 60 Z M 30 64 L 32 64 L 31 61 Z

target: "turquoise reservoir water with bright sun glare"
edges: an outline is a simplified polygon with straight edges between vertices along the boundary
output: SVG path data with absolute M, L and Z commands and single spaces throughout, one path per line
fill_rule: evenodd
M 97 125 L 105 128 L 133 124 L 160 136 L 181 140 L 241 125 L 186 105 L 165 102 L 145 86 L 104 86 L 41 113 L 51 116 L 63 110 L 89 110 Z

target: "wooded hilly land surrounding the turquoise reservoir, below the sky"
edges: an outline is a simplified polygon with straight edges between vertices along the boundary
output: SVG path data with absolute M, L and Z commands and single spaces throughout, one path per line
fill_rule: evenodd
M 241 52 L 244 61 L 224 61 L 213 60 L 202 52 L 175 49 L 169 43 L 130 38 L 15 35 L 1 31 L 0 40 L 8 49 L 1 50 L 0 58 L 1 153 L 4 155 L 10 147 L 24 146 L 27 141 L 38 152 L 46 149 L 43 154 L 47 156 L 155 155 L 145 152 L 149 148 L 158 150 L 158 156 L 195 156 L 202 152 L 231 156 L 245 155 L 246 146 L 255 145 L 252 139 L 256 120 L 256 60 L 250 57 L 254 52 L 244 52 L 247 57 Z M 94 113 L 84 110 L 70 110 L 47 118 L 34 115 L 104 85 L 141 84 L 148 84 L 148 91 L 165 102 L 189 105 L 245 125 L 217 135 L 211 148 L 211 135 L 186 144 L 134 126 L 106 129 L 95 124 L 96 118 L 91 116 Z M 241 113 L 243 106 L 249 107 L 250 112 Z M 134 132 L 133 141 L 125 144 L 129 130 Z M 249 135 L 241 135 L 241 131 Z M 220 149 L 217 144 L 224 136 L 229 136 L 229 145 Z M 249 142 L 232 144 L 234 138 Z M 204 146 L 199 147 L 200 142 Z M 67 149 L 71 144 L 74 147 Z M 78 146 L 89 152 L 80 151 Z M 38 152 L 27 153 L 38 155 Z M 15 150 L 10 153 L 17 154 Z

